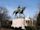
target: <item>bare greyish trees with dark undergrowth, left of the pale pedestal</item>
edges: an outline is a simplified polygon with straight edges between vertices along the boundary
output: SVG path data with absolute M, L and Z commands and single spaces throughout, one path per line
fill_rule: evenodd
M 8 11 L 5 7 L 0 7 L 0 25 L 1 27 L 8 27 L 11 25 L 9 21 L 10 17 L 8 16 Z

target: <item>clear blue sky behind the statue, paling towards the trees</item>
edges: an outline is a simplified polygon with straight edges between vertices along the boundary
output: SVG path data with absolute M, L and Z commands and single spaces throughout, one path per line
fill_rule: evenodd
M 0 6 L 6 7 L 8 9 L 8 14 L 14 17 L 13 11 L 18 6 L 25 6 L 24 11 L 25 17 L 34 17 L 38 12 L 38 0 L 0 0 Z

